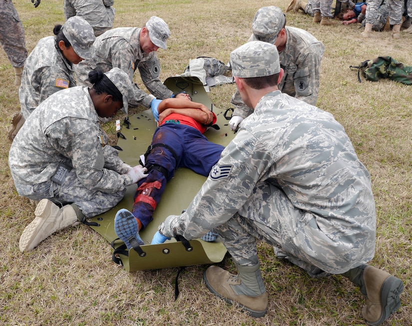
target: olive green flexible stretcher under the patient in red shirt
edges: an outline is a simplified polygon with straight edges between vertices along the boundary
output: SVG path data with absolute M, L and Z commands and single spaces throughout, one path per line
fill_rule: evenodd
M 205 136 L 215 143 L 226 146 L 234 137 L 228 126 L 231 114 L 216 108 L 211 102 L 202 83 L 197 77 L 169 77 L 164 84 L 173 92 L 186 91 L 195 102 L 209 107 L 217 116 L 217 128 L 210 128 Z M 139 164 L 140 155 L 144 154 L 150 145 L 156 122 L 150 110 L 129 116 L 129 126 L 122 125 L 120 130 L 124 136 L 119 137 L 117 146 L 119 157 L 131 166 Z M 205 242 L 201 239 L 189 242 L 171 239 L 163 244 L 151 245 L 150 242 L 156 233 L 159 224 L 169 215 L 180 215 L 185 210 L 195 194 L 203 185 L 206 177 L 198 175 L 185 168 L 176 170 L 153 215 L 153 221 L 140 233 L 147 245 L 140 246 L 140 253 L 131 249 L 127 251 L 124 243 L 114 232 L 114 217 L 116 212 L 125 208 L 131 211 L 133 196 L 137 188 L 131 185 L 127 188 L 124 198 L 111 210 L 95 216 L 89 220 L 94 222 L 90 227 L 108 240 L 114 248 L 113 261 L 122 264 L 129 271 L 143 271 L 170 267 L 185 267 L 192 265 L 214 264 L 223 260 L 226 248 L 217 239 L 214 242 Z

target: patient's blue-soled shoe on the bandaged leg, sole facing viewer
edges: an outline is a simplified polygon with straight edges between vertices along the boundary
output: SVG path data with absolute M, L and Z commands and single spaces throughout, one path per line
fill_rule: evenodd
M 131 212 L 124 208 L 117 211 L 116 217 L 114 218 L 114 232 L 116 232 L 119 239 L 125 243 L 129 250 L 133 248 L 130 244 L 133 238 L 137 240 L 139 246 L 144 245 L 143 240 L 139 236 L 138 229 L 137 221 Z

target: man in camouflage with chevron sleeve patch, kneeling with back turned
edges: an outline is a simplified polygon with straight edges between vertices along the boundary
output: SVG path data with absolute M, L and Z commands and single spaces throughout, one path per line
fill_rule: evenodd
M 244 102 L 254 108 L 208 179 L 164 237 L 197 239 L 214 228 L 238 275 L 211 266 L 209 290 L 254 317 L 267 312 L 256 238 L 311 276 L 341 274 L 367 297 L 363 317 L 382 324 L 400 306 L 403 282 L 367 265 L 375 254 L 370 175 L 332 114 L 280 92 L 276 46 L 249 42 L 230 56 Z M 158 237 L 157 237 L 158 238 Z

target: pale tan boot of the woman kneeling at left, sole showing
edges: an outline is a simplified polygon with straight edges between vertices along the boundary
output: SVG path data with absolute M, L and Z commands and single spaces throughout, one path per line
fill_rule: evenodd
M 53 233 L 80 223 L 71 205 L 59 208 L 48 199 L 40 200 L 34 215 L 36 217 L 20 236 L 18 249 L 21 252 L 30 251 Z

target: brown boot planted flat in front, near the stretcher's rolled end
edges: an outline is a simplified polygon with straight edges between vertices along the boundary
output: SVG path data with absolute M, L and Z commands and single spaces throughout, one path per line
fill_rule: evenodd
M 252 317 L 262 317 L 268 311 L 268 293 L 260 274 L 260 265 L 239 266 L 238 275 L 220 267 L 210 266 L 203 274 L 208 289 L 229 304 L 245 309 Z

